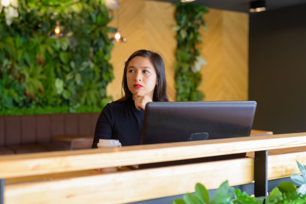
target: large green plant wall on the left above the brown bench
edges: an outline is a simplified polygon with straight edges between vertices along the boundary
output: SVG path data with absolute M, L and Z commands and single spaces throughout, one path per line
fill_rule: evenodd
M 0 7 L 0 115 L 101 111 L 113 79 L 104 1 L 19 0 L 11 24 Z

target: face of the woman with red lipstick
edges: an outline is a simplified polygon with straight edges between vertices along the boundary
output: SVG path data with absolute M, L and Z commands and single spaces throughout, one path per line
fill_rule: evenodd
M 128 88 L 134 95 L 147 95 L 153 100 L 155 85 L 157 84 L 156 71 L 148 58 L 136 56 L 127 66 Z

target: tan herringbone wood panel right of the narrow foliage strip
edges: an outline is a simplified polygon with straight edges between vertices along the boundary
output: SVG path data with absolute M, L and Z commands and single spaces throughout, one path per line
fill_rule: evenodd
M 199 89 L 205 101 L 248 99 L 248 16 L 239 12 L 210 9 L 205 15 L 202 68 Z

